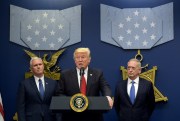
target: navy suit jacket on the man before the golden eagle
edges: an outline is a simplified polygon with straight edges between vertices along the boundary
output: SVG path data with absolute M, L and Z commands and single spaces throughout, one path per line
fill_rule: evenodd
M 17 94 L 18 121 L 56 121 L 56 115 L 49 106 L 52 96 L 58 91 L 58 83 L 45 77 L 44 81 L 44 99 L 41 99 L 34 77 L 20 82 Z

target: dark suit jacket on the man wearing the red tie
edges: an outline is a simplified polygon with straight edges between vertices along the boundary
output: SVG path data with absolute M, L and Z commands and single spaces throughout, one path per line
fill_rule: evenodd
M 102 71 L 88 68 L 86 96 L 111 96 L 111 89 L 103 77 Z M 60 93 L 66 96 L 73 96 L 80 93 L 76 69 L 70 69 L 61 73 Z M 102 121 L 102 113 L 84 111 L 81 113 L 63 113 L 63 121 Z

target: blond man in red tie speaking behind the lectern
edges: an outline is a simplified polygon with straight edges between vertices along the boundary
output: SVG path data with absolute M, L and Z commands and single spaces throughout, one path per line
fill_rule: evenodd
M 111 89 L 103 77 L 103 72 L 92 69 L 88 65 L 91 61 L 89 48 L 78 48 L 74 51 L 76 68 L 61 72 L 60 93 L 65 96 L 73 96 L 83 93 L 86 96 L 106 96 L 109 106 L 112 107 Z M 85 92 L 81 92 L 80 70 L 84 69 L 86 83 Z M 102 113 L 99 112 L 70 112 L 62 114 L 63 121 L 103 121 Z

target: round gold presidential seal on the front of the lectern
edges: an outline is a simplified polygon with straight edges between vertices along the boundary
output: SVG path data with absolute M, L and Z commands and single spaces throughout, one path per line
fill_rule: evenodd
M 88 107 L 88 99 L 85 95 L 78 93 L 71 97 L 70 107 L 75 112 L 83 112 Z

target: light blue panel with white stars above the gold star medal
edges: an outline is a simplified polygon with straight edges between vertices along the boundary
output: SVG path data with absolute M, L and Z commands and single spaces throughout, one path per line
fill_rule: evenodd
M 101 4 L 103 42 L 123 49 L 151 49 L 173 39 L 173 3 L 124 9 Z

